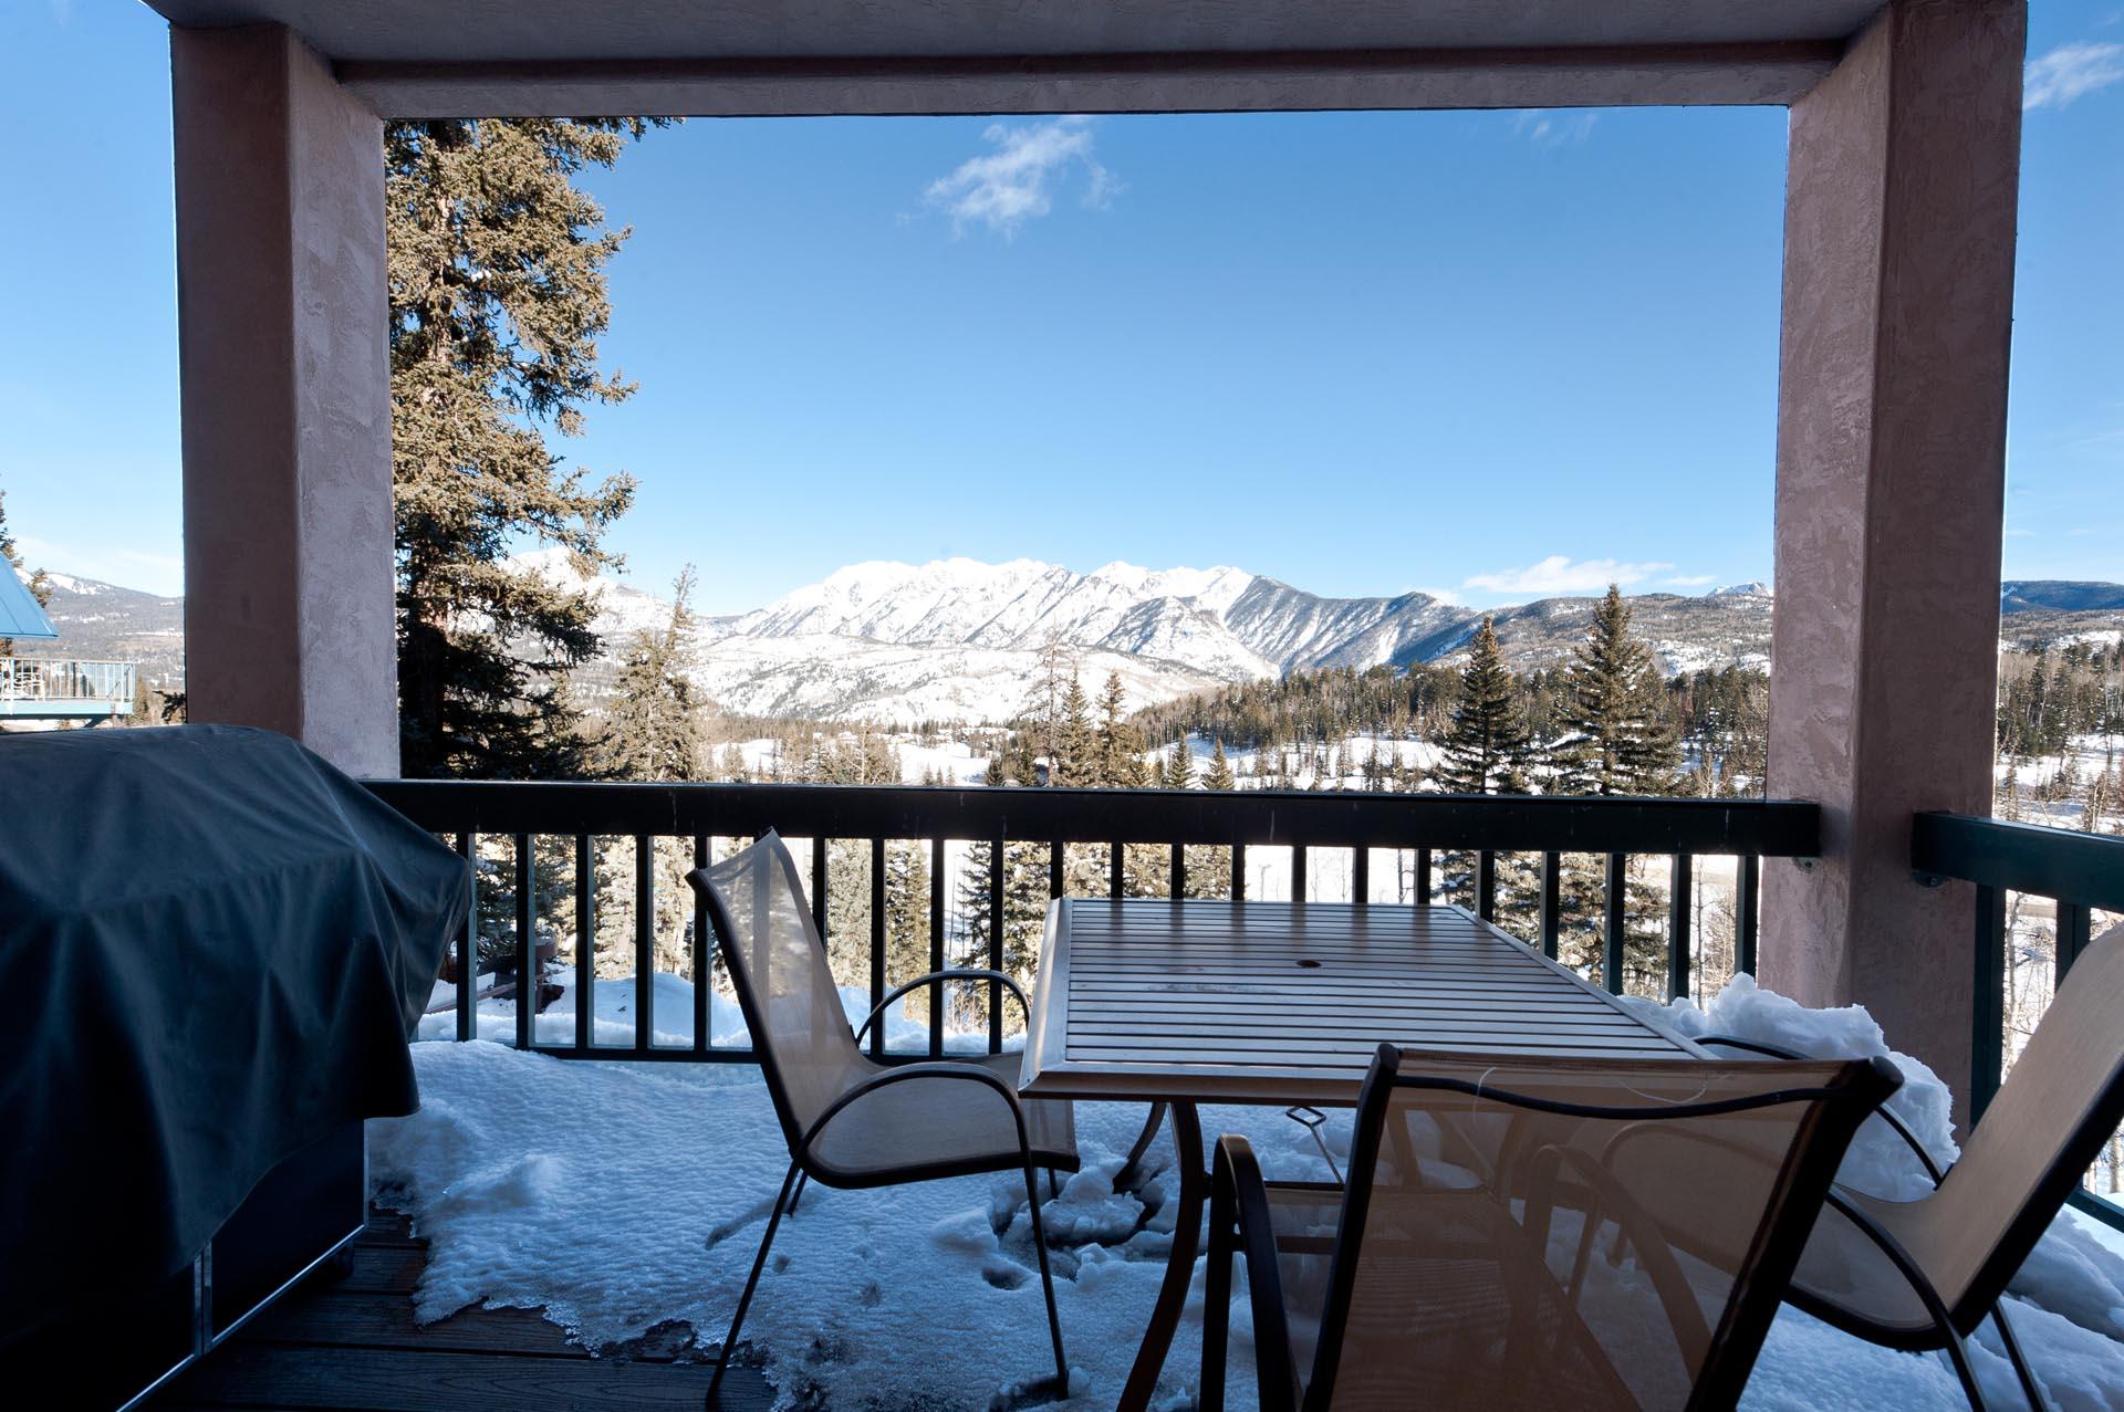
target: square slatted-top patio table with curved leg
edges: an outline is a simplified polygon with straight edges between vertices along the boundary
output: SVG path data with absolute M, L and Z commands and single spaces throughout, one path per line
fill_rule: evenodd
M 1349 1106 L 1381 1040 L 1708 1057 L 1463 907 L 1058 898 L 1047 909 L 1020 1091 L 1149 1102 L 1151 1123 L 1158 1106 L 1172 1115 L 1179 1221 L 1124 1412 L 1149 1406 L 1194 1276 L 1209 1193 L 1196 1106 Z

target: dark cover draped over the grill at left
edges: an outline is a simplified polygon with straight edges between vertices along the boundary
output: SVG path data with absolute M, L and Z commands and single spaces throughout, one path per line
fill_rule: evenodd
M 266 730 L 0 737 L 0 1346 L 418 1106 L 465 862 Z M 117 1333 L 123 1338 L 123 1331 Z

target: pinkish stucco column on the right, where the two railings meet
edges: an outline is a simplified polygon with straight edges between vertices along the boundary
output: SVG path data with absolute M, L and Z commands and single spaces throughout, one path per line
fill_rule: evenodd
M 1967 1094 L 1973 900 L 1920 809 L 1990 813 L 2022 0 L 1895 0 L 1793 106 L 1778 367 L 1763 981 L 1861 1002 Z

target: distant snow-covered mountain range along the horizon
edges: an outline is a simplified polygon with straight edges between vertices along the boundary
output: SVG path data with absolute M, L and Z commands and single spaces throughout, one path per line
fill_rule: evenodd
M 665 597 L 614 578 L 586 578 L 565 550 L 516 563 L 593 592 L 607 652 L 669 620 Z M 38 654 L 136 658 L 157 686 L 183 682 L 183 599 L 53 575 L 59 643 Z M 1635 631 L 1667 671 L 1767 665 L 1771 595 L 1733 584 L 1699 597 L 1638 595 Z M 1540 599 L 1493 609 L 1519 671 L 1565 660 L 1595 599 Z M 2124 586 L 2009 582 L 2001 586 L 2011 645 L 2113 641 Z M 767 607 L 703 618 L 692 675 L 731 711 L 828 720 L 996 722 L 1026 707 L 1049 643 L 1068 650 L 1087 688 L 1119 671 L 1130 707 L 1317 667 L 1451 660 L 1483 614 L 1423 592 L 1325 599 L 1245 569 L 1090 573 L 1030 558 L 990 565 L 862 563 Z M 586 673 L 590 696 L 597 677 Z M 610 679 L 610 673 L 605 673 Z

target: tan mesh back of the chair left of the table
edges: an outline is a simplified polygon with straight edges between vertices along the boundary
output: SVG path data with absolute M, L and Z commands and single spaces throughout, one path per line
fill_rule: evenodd
M 775 834 L 690 875 L 794 1151 L 835 1098 L 871 1070 L 826 966 L 796 860 Z

